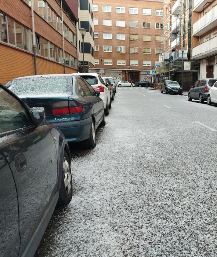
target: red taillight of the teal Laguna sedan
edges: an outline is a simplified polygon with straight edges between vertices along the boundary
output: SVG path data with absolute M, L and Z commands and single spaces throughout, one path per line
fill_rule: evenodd
M 59 101 L 52 104 L 53 115 L 73 114 L 82 111 L 82 106 L 76 101 Z

